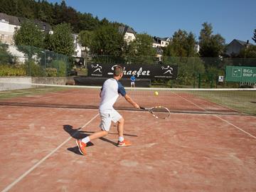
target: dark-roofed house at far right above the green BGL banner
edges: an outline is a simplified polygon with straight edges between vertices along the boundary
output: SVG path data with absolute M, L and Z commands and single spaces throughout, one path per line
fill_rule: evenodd
M 238 39 L 234 39 L 228 44 L 227 50 L 225 53 L 229 56 L 238 55 L 243 48 L 247 48 L 250 45 L 251 44 L 249 43 L 249 40 L 245 42 L 245 41 L 240 41 Z

